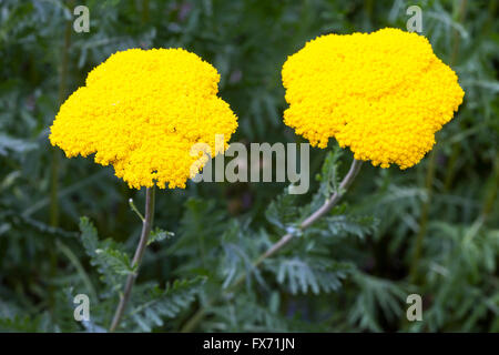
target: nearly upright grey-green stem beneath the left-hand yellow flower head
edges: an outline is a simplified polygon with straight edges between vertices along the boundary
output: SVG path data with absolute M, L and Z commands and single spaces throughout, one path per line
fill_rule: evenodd
M 120 325 L 120 321 L 123 316 L 126 304 L 130 301 L 130 295 L 132 293 L 132 287 L 135 282 L 136 276 L 139 275 L 139 267 L 142 262 L 142 256 L 144 256 L 145 246 L 147 245 L 149 235 L 151 234 L 152 225 L 154 220 L 154 186 L 147 187 L 145 190 L 145 216 L 142 223 L 142 233 L 141 239 L 139 241 L 139 245 L 135 250 L 135 255 L 133 256 L 132 266 L 136 267 L 133 274 L 130 274 L 126 277 L 126 284 L 123 291 L 123 295 L 120 297 L 120 304 L 116 307 L 116 312 L 114 313 L 113 321 L 109 328 L 110 332 L 114 332 Z

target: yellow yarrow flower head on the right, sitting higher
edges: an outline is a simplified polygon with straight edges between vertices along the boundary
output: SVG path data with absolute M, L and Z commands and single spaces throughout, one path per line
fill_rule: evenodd
M 417 164 L 465 95 L 426 38 L 389 28 L 318 37 L 282 75 L 287 125 L 314 146 L 335 138 L 381 168 Z

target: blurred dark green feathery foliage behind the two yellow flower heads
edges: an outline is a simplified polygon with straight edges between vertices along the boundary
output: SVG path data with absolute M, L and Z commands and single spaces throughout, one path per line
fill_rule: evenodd
M 72 27 L 79 4 L 88 33 Z M 240 120 L 233 142 L 303 142 L 282 122 L 287 55 L 324 33 L 406 29 L 413 4 L 466 92 L 434 151 L 406 171 L 364 164 L 328 219 L 259 268 L 252 261 L 346 172 L 349 151 L 310 150 L 306 195 L 284 183 L 157 191 L 155 223 L 175 234 L 146 251 L 121 329 L 498 332 L 499 21 L 497 1 L 466 0 L 1 0 L 0 331 L 104 331 L 122 290 L 141 229 L 129 199 L 142 210 L 144 190 L 48 141 L 93 67 L 118 50 L 182 47 L 218 70 Z M 90 322 L 73 318 L 80 293 Z M 411 293 L 421 322 L 406 320 Z

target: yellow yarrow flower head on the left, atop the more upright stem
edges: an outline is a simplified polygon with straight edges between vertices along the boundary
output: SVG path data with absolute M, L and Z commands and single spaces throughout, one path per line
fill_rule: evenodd
M 95 153 L 131 187 L 185 187 L 191 166 L 204 165 L 191 148 L 206 143 L 213 156 L 215 135 L 226 149 L 237 128 L 218 81 L 215 68 L 183 49 L 116 52 L 61 105 L 50 141 L 68 158 Z

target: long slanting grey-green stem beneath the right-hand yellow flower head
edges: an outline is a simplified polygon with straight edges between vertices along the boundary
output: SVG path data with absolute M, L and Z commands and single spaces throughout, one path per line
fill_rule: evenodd
M 363 162 L 359 160 L 355 160 L 352 162 L 350 169 L 348 170 L 348 173 L 345 175 L 343 181 L 339 183 L 338 190 L 330 195 L 330 197 L 314 213 L 312 213 L 308 217 L 306 217 L 301 224 L 299 230 L 305 230 L 312 224 L 314 224 L 317 220 L 319 220 L 322 216 L 324 216 L 327 212 L 333 209 L 338 201 L 342 199 L 342 196 L 347 192 L 348 187 L 354 182 L 355 178 L 357 176 L 358 172 L 360 171 Z M 271 257 L 275 253 L 277 253 L 281 248 L 283 248 L 289 241 L 293 239 L 295 234 L 294 233 L 287 233 L 283 235 L 275 244 L 273 244 L 265 253 L 259 255 L 258 258 L 253 263 L 253 267 L 258 267 L 264 260 Z M 246 273 L 243 273 L 227 290 L 234 290 L 237 286 L 240 286 L 244 280 L 246 278 Z M 181 332 L 189 333 L 192 332 L 196 325 L 203 320 L 204 315 L 206 314 L 206 307 L 211 304 L 211 301 L 206 303 L 204 307 L 201 307 L 189 321 L 185 323 L 185 325 L 182 327 Z

